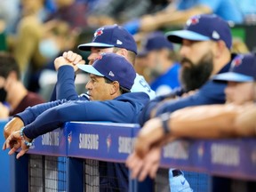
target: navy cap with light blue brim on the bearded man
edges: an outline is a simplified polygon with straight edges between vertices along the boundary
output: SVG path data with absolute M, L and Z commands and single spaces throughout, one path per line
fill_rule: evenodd
M 172 43 L 181 44 L 182 39 L 192 41 L 219 41 L 225 42 L 228 49 L 232 46 L 232 35 L 228 22 L 215 14 L 199 14 L 192 16 L 186 22 L 183 30 L 166 33 Z

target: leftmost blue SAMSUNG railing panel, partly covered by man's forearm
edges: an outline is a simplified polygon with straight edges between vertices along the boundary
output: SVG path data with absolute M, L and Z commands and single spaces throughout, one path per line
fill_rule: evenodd
M 59 128 L 47 132 L 34 140 L 34 145 L 28 150 L 29 154 L 45 156 L 67 156 L 66 129 Z

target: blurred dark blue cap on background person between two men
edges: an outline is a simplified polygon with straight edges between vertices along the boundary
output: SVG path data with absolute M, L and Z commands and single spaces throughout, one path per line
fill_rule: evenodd
M 150 33 L 146 40 L 142 42 L 142 51 L 139 52 L 139 55 L 146 55 L 148 52 L 154 51 L 154 50 L 160 50 L 163 48 L 167 48 L 170 50 L 173 50 L 173 45 L 166 36 L 164 36 L 163 32 L 156 31 L 153 33 Z

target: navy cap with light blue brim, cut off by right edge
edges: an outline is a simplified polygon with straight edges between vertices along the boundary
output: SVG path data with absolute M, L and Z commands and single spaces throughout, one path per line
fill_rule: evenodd
M 229 72 L 213 76 L 217 81 L 253 82 L 256 81 L 255 54 L 237 55 L 231 62 Z

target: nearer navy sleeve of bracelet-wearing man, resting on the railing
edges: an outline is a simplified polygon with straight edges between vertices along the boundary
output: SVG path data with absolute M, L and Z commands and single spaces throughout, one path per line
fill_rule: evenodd
M 70 113 L 70 111 L 73 112 Z M 135 116 L 134 108 L 129 102 L 69 100 L 59 106 L 44 110 L 35 121 L 26 125 L 24 133 L 28 138 L 34 139 L 46 132 L 52 132 L 68 121 L 133 123 Z

